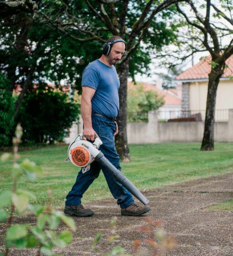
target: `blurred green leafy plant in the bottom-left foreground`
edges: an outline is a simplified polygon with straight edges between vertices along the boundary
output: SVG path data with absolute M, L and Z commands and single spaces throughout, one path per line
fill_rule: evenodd
M 0 256 L 7 256 L 11 245 L 15 245 L 19 249 L 38 248 L 37 256 L 45 254 L 54 255 L 54 246 L 64 248 L 72 240 L 72 233 L 68 230 L 62 231 L 60 234 L 53 230 L 58 227 L 62 220 L 73 231 L 75 230 L 74 220 L 65 216 L 62 212 L 53 210 L 51 207 L 51 191 L 48 191 L 50 198 L 47 206 L 31 204 L 30 200 L 36 197 L 29 191 L 18 189 L 17 182 L 21 176 L 27 176 L 31 181 L 35 181 L 37 174 L 41 174 L 42 170 L 34 162 L 30 160 L 22 160 L 18 163 L 18 147 L 21 142 L 22 128 L 18 124 L 16 127 L 16 137 L 13 138 L 14 154 L 5 153 L 1 155 L 1 160 L 6 161 L 13 159 L 12 190 L 5 190 L 0 193 L 0 221 L 8 221 L 5 234 L 5 253 L 0 252 Z M 10 216 L 5 210 L 11 204 Z M 29 210 L 37 217 L 37 225 L 29 224 L 12 224 L 14 213 L 22 213 Z M 7 219 L 8 217 L 8 219 Z

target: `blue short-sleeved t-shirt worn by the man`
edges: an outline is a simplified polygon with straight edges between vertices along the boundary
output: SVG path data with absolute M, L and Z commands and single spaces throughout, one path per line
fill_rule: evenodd
M 93 112 L 112 118 L 118 115 L 120 80 L 115 66 L 107 66 L 98 59 L 91 62 L 83 70 L 82 86 L 96 90 L 91 100 Z

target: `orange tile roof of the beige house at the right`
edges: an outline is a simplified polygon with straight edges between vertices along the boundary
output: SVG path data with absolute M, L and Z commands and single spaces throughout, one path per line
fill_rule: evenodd
M 176 80 L 198 80 L 208 79 L 208 74 L 211 71 L 211 56 L 202 59 L 196 65 L 187 69 L 176 77 Z M 227 68 L 225 69 L 222 77 L 233 75 L 233 55 L 226 60 Z

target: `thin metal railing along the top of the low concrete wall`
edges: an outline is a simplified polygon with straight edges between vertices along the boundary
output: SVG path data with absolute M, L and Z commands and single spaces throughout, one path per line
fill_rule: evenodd
M 228 121 L 228 109 L 217 109 L 215 110 L 215 121 L 216 122 L 227 122 Z M 176 118 L 195 118 L 196 121 L 204 121 L 206 116 L 205 110 L 161 110 L 158 111 L 159 121 L 168 121 L 169 119 Z M 127 112 L 127 122 L 129 123 L 142 123 L 148 122 L 148 112 Z

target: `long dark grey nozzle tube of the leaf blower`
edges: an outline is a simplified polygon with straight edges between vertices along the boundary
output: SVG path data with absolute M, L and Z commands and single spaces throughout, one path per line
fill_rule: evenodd
M 149 200 L 143 196 L 143 194 L 138 190 L 137 187 L 135 187 L 131 181 L 129 181 L 127 179 L 126 176 L 124 176 L 124 174 L 119 171 L 118 169 L 116 169 L 116 167 L 114 165 L 111 164 L 111 162 L 109 160 L 106 159 L 106 157 L 104 156 L 104 154 L 102 152 L 100 152 L 98 155 L 95 156 L 95 160 L 97 162 L 99 162 L 103 167 L 105 167 L 112 176 L 114 176 L 116 178 L 116 180 L 120 181 L 120 183 L 129 191 L 132 193 L 132 195 L 134 195 L 135 197 L 138 198 L 138 200 L 140 200 L 143 204 L 148 204 Z

